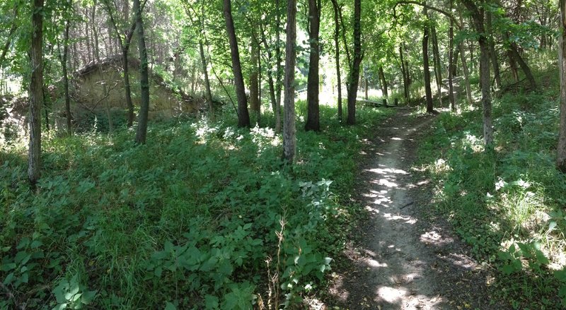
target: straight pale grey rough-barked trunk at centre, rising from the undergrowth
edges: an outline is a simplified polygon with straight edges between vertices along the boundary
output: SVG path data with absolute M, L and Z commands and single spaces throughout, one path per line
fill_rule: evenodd
M 295 44 L 296 0 L 287 1 L 287 44 L 285 47 L 285 114 L 283 121 L 283 160 L 292 164 L 296 153 L 295 126 Z

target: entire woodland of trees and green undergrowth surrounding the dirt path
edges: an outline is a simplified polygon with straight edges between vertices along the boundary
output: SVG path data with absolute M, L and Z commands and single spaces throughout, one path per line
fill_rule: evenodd
M 489 298 L 566 306 L 565 0 L 0 12 L 0 309 L 325 300 L 395 107 L 439 114 L 415 169 Z

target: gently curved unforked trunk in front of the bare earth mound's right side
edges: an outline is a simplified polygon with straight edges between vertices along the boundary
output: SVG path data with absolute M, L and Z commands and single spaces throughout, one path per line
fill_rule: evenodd
M 139 84 L 140 84 L 140 100 L 139 115 L 137 121 L 136 143 L 145 144 L 147 134 L 147 119 L 149 114 L 149 70 L 147 68 L 147 49 L 144 35 L 144 21 L 141 18 L 141 8 L 139 0 L 134 0 L 134 12 L 136 14 L 136 29 L 138 35 L 139 49 Z

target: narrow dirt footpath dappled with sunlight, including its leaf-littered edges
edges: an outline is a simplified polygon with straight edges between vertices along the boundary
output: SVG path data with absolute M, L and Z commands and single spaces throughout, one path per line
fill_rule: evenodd
M 490 300 L 489 268 L 435 215 L 432 184 L 412 167 L 434 116 L 411 112 L 399 109 L 368 141 L 353 197 L 367 217 L 337 259 L 325 306 L 508 309 Z

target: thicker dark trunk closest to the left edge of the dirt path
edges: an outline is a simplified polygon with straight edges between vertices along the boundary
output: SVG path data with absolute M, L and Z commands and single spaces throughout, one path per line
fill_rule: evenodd
M 350 69 L 348 82 L 348 118 L 347 124 L 356 124 L 356 97 L 358 92 L 359 65 L 362 64 L 362 0 L 354 0 L 354 61 Z

